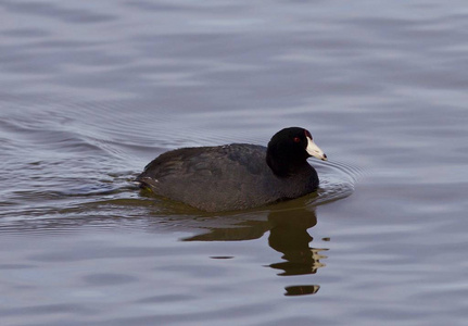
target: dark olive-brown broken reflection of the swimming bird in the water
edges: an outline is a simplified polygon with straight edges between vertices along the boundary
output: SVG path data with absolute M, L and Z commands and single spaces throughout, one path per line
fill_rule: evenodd
M 239 217 L 239 216 L 238 216 Z M 306 275 L 315 274 L 325 264 L 320 260 L 327 256 L 322 254 L 326 248 L 311 248 L 313 238 L 307 229 L 317 224 L 315 208 L 294 208 L 275 210 L 268 213 L 265 220 L 257 214 L 245 215 L 237 224 L 226 225 L 219 220 L 217 227 L 207 227 L 206 234 L 198 235 L 186 241 L 239 241 L 261 238 L 269 230 L 268 244 L 282 253 L 283 261 L 268 265 L 281 271 L 278 275 Z M 223 218 L 222 218 L 223 220 Z M 231 220 L 232 222 L 232 220 Z M 225 224 L 225 225 L 223 225 Z M 284 296 L 314 294 L 320 287 L 318 285 L 300 285 L 286 287 Z

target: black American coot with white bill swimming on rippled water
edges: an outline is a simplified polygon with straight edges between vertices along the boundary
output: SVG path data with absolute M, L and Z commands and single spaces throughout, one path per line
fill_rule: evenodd
M 306 161 L 311 156 L 327 160 L 311 133 L 291 127 L 275 134 L 268 148 L 231 143 L 163 153 L 136 180 L 203 211 L 244 210 L 315 191 L 318 176 Z

